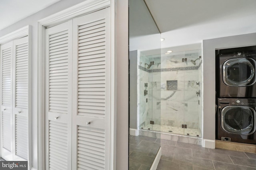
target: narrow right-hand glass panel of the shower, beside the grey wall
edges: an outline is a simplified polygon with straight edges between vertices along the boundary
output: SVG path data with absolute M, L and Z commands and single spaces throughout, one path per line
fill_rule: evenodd
M 184 113 L 184 135 L 201 137 L 202 117 L 202 76 L 200 72 L 202 57 L 201 50 L 185 51 L 188 59 L 186 74 L 184 76 L 184 100 L 187 109 Z

